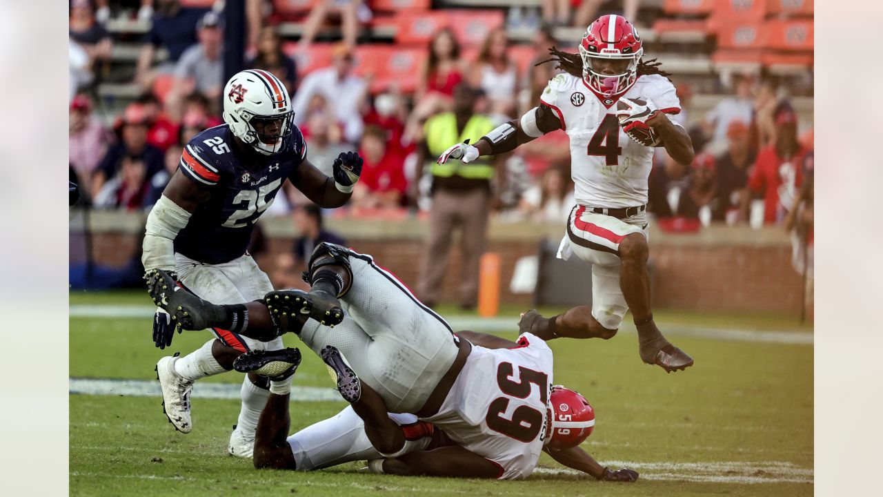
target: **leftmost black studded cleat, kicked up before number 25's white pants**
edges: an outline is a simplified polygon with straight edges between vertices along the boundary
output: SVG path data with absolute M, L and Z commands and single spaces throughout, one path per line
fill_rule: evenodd
M 172 323 L 184 330 L 204 330 L 223 321 L 225 312 L 221 306 L 206 302 L 177 284 L 162 269 L 148 271 L 147 293 L 154 303 L 171 315 Z

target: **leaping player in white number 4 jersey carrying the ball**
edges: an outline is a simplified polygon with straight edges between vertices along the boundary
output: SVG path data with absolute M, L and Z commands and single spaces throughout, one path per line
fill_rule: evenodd
M 558 257 L 592 263 L 592 307 L 555 317 L 530 310 L 519 324 L 543 340 L 558 337 L 609 339 L 631 310 L 638 353 L 665 371 L 683 370 L 693 359 L 673 346 L 653 323 L 646 263 L 647 177 L 653 147 L 665 147 L 680 164 L 691 164 L 688 134 L 668 114 L 681 111 L 675 87 L 658 64 L 642 61 L 638 31 L 618 15 L 601 16 L 585 30 L 579 53 L 550 49 L 564 73 L 549 81 L 540 104 L 521 119 L 497 127 L 474 144 L 457 143 L 440 163 L 502 154 L 561 129 L 570 137 L 570 174 L 577 205 L 570 211 Z

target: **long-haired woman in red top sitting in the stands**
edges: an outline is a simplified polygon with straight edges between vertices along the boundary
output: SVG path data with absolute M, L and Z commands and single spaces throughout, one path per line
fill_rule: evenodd
M 419 141 L 423 122 L 437 112 L 451 109 L 454 88 L 463 80 L 464 73 L 460 44 L 454 32 L 448 28 L 436 31 L 429 41 L 429 56 L 420 69 L 414 92 L 414 110 L 405 126 L 404 141 Z

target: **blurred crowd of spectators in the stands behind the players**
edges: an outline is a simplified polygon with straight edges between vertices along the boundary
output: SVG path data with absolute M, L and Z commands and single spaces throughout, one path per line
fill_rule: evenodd
M 373 94 L 371 78 L 358 75 L 355 43 L 372 15 L 360 0 L 320 2 L 307 16 L 300 51 L 310 50 L 326 16 L 338 16 L 343 27 L 343 42 L 329 65 L 308 74 L 299 73 L 296 60 L 283 51 L 271 4 L 248 0 L 245 59 L 285 82 L 313 164 L 329 174 L 344 150 L 358 149 L 365 158 L 363 180 L 347 207 L 350 215 L 426 210 L 435 158 L 426 130 L 433 119 L 459 112 L 484 116 L 496 126 L 532 108 L 555 74 L 553 64 L 534 65 L 556 44 L 552 27 L 585 26 L 602 4 L 544 0 L 526 70 L 511 57 L 505 28 L 487 33 L 474 60 L 464 57 L 455 33 L 442 28 L 428 43 L 412 94 L 395 84 Z M 633 16 L 638 0 L 622 5 Z M 95 91 L 113 50 L 114 38 L 104 27 L 111 15 L 150 21 L 133 75 L 141 96 L 112 121 Z M 71 174 L 87 203 L 148 209 L 177 168 L 182 146 L 203 129 L 222 124 L 224 28 L 217 11 L 180 0 L 71 0 Z M 684 109 L 676 119 L 686 125 L 691 88 L 675 83 Z M 784 223 L 800 200 L 812 164 L 811 131 L 797 133 L 796 111 L 775 80 L 741 74 L 727 83 L 731 95 L 705 116 L 691 116 L 700 123 L 688 126 L 698 152 L 693 164 L 677 164 L 657 149 L 648 209 L 656 218 L 674 219 L 661 226 L 689 231 L 714 222 Z M 457 91 L 468 109 L 457 108 Z M 573 203 L 567 136 L 547 134 L 502 157 L 492 183 L 490 205 L 500 218 L 563 222 Z M 294 188 L 285 193 L 270 214 L 307 203 Z

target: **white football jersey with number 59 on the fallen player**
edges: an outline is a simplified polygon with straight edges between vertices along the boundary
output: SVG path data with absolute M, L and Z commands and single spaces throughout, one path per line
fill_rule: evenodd
M 425 419 L 500 466 L 500 479 L 527 478 L 546 440 L 552 350 L 531 333 L 518 337 L 518 344 L 473 345 L 442 409 Z

